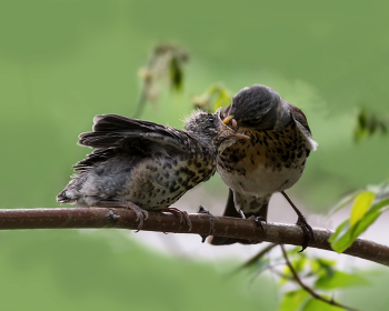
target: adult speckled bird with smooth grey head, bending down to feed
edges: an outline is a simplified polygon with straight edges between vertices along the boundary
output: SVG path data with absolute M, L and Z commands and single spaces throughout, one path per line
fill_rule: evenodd
M 281 192 L 287 198 L 283 191 L 300 179 L 318 143 L 302 111 L 266 86 L 240 90 L 221 116 L 226 123 L 232 122 L 233 129 L 238 127 L 237 132 L 250 137 L 227 148 L 217 161 L 218 173 L 230 188 L 225 215 L 266 220 L 271 195 Z M 301 212 L 292 208 L 305 232 L 305 249 L 309 240 L 315 240 L 313 231 Z M 217 245 L 235 242 L 249 243 L 221 237 L 210 240 Z

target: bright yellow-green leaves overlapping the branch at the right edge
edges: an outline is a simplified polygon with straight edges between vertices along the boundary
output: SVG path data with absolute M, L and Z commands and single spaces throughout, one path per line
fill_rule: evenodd
M 359 191 L 357 194 L 355 193 L 349 197 L 355 198 L 350 219 L 339 224 L 329 239 L 331 248 L 335 251 L 339 253 L 343 252 L 388 209 L 388 183 L 369 187 L 369 190 L 370 191 Z

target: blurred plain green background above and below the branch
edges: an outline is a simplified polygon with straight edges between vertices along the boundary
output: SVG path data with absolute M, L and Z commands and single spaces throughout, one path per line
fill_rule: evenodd
M 388 178 L 388 139 L 352 140 L 361 104 L 389 112 L 388 10 L 385 1 L 1 0 L 0 207 L 59 207 L 71 165 L 89 151 L 77 136 L 96 114 L 132 114 L 138 70 L 166 41 L 191 53 L 183 92 L 166 90 L 141 118 L 182 129 L 190 98 L 215 82 L 275 88 L 305 111 L 319 142 L 291 193 L 326 213 L 339 195 Z M 206 188 L 226 192 L 218 177 Z M 8 231 L 0 245 L 3 310 L 279 303 L 266 278 L 226 282 L 207 261 L 161 254 L 116 230 Z M 386 310 L 380 299 L 375 310 Z

